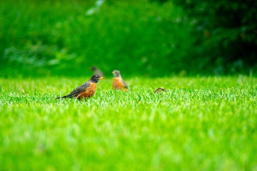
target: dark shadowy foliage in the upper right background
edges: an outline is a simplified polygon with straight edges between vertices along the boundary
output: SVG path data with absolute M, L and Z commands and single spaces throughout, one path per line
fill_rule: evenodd
M 159 0 L 164 2 L 164 0 Z M 217 73 L 248 72 L 257 64 L 256 0 L 172 0 L 184 8 L 199 69 Z M 205 62 L 203 62 L 205 61 Z M 198 65 L 199 63 L 204 65 Z M 202 67 L 202 68 L 201 68 Z

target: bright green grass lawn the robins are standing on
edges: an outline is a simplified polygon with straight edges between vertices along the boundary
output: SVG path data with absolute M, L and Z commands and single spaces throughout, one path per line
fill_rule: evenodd
M 256 78 L 106 79 L 53 99 L 87 80 L 0 79 L 0 170 L 257 170 Z

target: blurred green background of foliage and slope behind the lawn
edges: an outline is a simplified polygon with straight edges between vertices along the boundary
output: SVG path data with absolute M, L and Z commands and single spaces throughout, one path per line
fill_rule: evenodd
M 1 0 L 0 76 L 256 74 L 255 0 Z

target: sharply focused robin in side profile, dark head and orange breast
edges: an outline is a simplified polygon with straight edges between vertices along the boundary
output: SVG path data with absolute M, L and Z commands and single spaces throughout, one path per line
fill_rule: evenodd
M 91 79 L 89 79 L 89 81 L 87 81 L 83 85 L 80 85 L 79 87 L 74 89 L 70 94 L 63 97 L 56 97 L 55 99 L 72 98 L 72 97 L 76 97 L 77 99 L 90 98 L 93 96 L 96 90 L 96 84 L 100 79 L 103 79 L 103 77 L 95 74 L 91 77 Z

